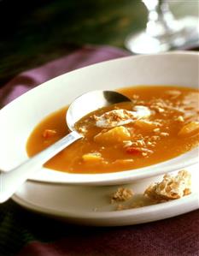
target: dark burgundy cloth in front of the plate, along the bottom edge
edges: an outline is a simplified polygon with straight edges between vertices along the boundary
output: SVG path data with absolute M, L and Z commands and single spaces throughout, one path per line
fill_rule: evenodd
M 72 235 L 59 241 L 33 241 L 19 256 L 199 255 L 199 211 L 135 226 L 74 229 Z

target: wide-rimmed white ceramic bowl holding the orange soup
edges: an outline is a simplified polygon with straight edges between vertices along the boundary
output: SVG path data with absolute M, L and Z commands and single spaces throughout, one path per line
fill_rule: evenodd
M 114 90 L 138 85 L 198 87 L 199 56 L 173 52 L 153 56 L 123 57 L 63 74 L 26 92 L 0 110 L 0 170 L 11 170 L 25 161 L 26 140 L 44 116 L 70 104 L 84 92 Z M 196 164 L 198 148 L 179 158 L 139 170 L 111 174 L 73 175 L 41 168 L 34 181 L 110 185 L 129 183 Z

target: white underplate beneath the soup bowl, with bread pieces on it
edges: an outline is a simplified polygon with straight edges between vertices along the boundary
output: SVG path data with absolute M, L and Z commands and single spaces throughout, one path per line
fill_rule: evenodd
M 198 166 L 188 168 L 192 174 L 192 193 L 182 199 L 175 199 L 167 203 L 150 205 L 144 199 L 141 208 L 116 211 L 117 204 L 110 204 L 111 194 L 119 186 L 86 187 L 61 186 L 38 182 L 26 182 L 13 199 L 28 210 L 60 218 L 68 223 L 94 226 L 121 226 L 147 223 L 167 217 L 174 217 L 199 208 L 199 172 Z M 146 179 L 123 185 L 132 188 L 135 197 L 127 201 L 132 205 L 143 198 L 143 191 L 151 182 L 157 182 L 161 177 Z M 121 203 L 122 204 L 122 203 Z

